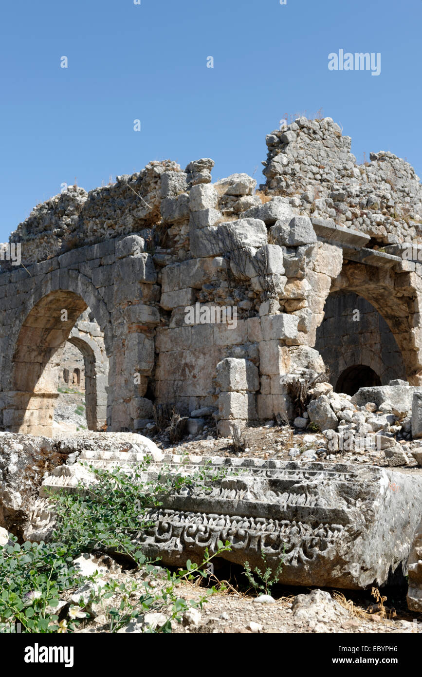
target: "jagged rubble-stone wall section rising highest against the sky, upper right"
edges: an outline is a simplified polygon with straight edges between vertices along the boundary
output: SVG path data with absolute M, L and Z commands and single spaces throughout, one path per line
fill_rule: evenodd
M 422 188 L 408 162 L 390 152 L 356 164 L 351 139 L 331 118 L 297 121 L 266 137 L 266 187 L 295 206 L 362 230 L 374 244 L 420 241 Z

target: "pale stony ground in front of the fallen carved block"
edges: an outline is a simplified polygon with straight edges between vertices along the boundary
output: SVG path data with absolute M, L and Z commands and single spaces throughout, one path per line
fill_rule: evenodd
M 101 582 L 112 579 L 120 583 L 133 582 L 151 584 L 155 589 L 162 586 L 164 571 L 158 567 L 156 575 L 145 575 L 143 571 L 122 571 L 120 566 L 112 563 L 99 567 Z M 93 557 L 91 556 L 91 561 Z M 83 567 L 86 563 L 83 563 Z M 237 567 L 235 567 L 237 569 Z M 229 573 L 227 570 L 224 573 Z M 182 615 L 182 621 L 172 621 L 172 632 L 199 633 L 199 634 L 252 634 L 252 633 L 422 633 L 422 614 L 410 613 L 406 609 L 405 596 L 398 590 L 387 591 L 387 600 L 377 604 L 369 592 L 352 592 L 350 590 L 334 591 L 307 588 L 286 588 L 278 586 L 274 596 L 257 596 L 240 580 L 241 569 L 229 573 L 230 582 L 226 582 L 224 592 L 210 591 L 200 586 L 199 581 L 181 582 L 177 586 L 177 594 L 187 600 L 187 603 L 200 603 L 208 594 L 208 598 L 201 607 L 188 609 Z M 222 580 L 222 579 L 221 579 Z M 210 584 L 219 586 L 218 574 Z M 80 591 L 70 591 L 68 604 L 78 602 Z M 390 602 L 394 601 L 395 607 Z M 135 597 L 135 596 L 134 596 Z M 116 606 L 120 596 L 114 595 L 110 600 L 101 604 L 87 607 L 89 617 L 83 621 L 77 632 L 110 632 L 108 607 Z M 66 611 L 66 609 L 64 609 Z M 164 612 L 164 613 L 163 613 Z M 148 626 L 164 624 L 169 615 L 169 609 L 151 611 L 139 615 L 133 621 L 125 624 L 118 632 L 142 632 Z

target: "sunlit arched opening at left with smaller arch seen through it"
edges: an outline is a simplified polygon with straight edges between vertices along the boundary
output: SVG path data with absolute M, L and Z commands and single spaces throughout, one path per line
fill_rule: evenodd
M 54 410 L 60 395 L 60 382 L 69 389 L 80 388 L 85 371 L 85 391 L 89 399 L 87 427 L 103 429 L 106 423 L 108 359 L 103 334 L 87 304 L 74 292 L 58 290 L 43 297 L 26 316 L 13 357 L 13 408 L 5 426 L 12 432 L 30 435 L 53 434 Z M 87 322 L 85 322 L 87 320 Z M 82 331 L 78 330 L 78 326 Z M 95 334 L 91 336 L 90 331 Z M 86 339 L 86 340 L 85 340 Z M 64 366 L 63 356 L 70 344 L 78 349 L 82 364 Z M 101 364 L 97 364 L 97 361 Z M 106 362 L 106 366 L 104 366 Z M 101 405 L 97 397 L 97 370 Z M 88 407 L 87 407 L 88 409 Z

